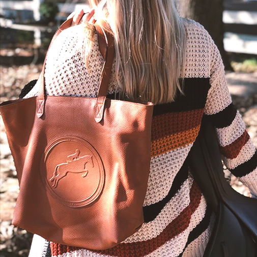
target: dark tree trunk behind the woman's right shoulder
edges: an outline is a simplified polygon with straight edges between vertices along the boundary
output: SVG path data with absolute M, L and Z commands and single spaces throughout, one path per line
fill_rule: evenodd
M 182 17 L 193 19 L 205 27 L 220 51 L 225 69 L 233 70 L 223 45 L 223 0 L 178 0 L 178 4 Z

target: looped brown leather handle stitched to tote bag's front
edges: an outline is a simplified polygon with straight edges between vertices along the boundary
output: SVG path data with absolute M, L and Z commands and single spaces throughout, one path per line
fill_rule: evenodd
M 58 35 L 65 30 L 66 28 L 70 27 L 72 24 L 72 18 L 69 20 L 66 20 L 56 31 L 54 34 L 50 46 L 47 50 L 47 53 L 53 43 L 53 41 L 58 37 Z M 98 34 L 98 42 L 99 42 L 99 50 L 105 60 L 102 73 L 101 73 L 101 79 L 100 79 L 100 85 L 97 95 L 97 101 L 96 101 L 96 116 L 95 120 L 96 122 L 100 122 L 103 118 L 103 111 L 104 111 L 104 104 L 105 99 L 108 91 L 108 84 L 110 79 L 110 73 L 112 69 L 112 63 L 113 58 L 115 54 L 115 46 L 114 46 L 114 39 L 112 34 L 110 33 L 111 29 L 109 24 L 104 20 L 99 20 L 95 24 L 96 31 Z M 46 53 L 46 56 L 47 56 Z M 44 73 L 45 73 L 45 64 L 46 64 L 46 58 L 43 64 L 42 72 L 40 74 L 40 88 L 39 88 L 39 96 L 37 100 L 37 116 L 38 118 L 42 117 L 44 113 L 44 105 L 45 105 L 45 79 L 44 79 Z

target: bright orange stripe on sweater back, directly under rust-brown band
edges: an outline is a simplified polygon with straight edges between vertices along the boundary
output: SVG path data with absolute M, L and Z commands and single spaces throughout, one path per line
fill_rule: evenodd
M 201 125 L 198 125 L 190 130 L 185 130 L 176 134 L 167 135 L 162 138 L 152 140 L 151 158 L 193 143 L 198 135 L 200 126 Z

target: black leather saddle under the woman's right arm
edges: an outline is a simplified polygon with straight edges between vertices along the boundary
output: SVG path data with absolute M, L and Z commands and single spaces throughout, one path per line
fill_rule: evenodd
M 204 257 L 256 257 L 257 199 L 236 192 L 226 182 L 215 128 L 206 117 L 188 159 L 195 181 L 216 213 Z

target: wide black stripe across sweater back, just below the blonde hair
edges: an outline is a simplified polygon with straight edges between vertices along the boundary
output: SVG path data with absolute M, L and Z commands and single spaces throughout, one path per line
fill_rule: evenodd
M 175 102 L 157 104 L 154 106 L 153 116 L 168 112 L 203 109 L 206 104 L 210 78 L 185 78 L 184 95 L 178 94 Z

